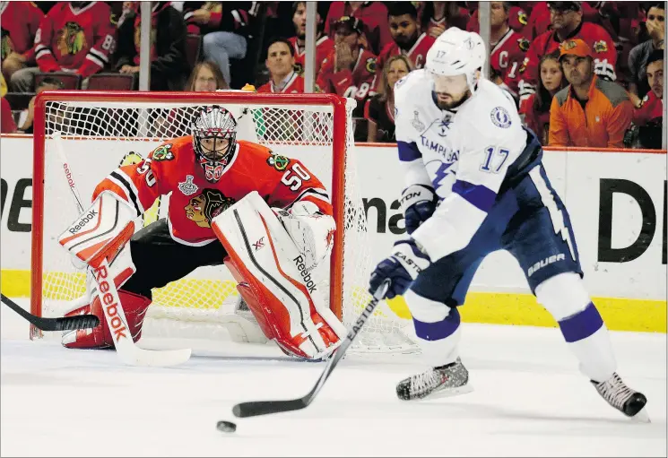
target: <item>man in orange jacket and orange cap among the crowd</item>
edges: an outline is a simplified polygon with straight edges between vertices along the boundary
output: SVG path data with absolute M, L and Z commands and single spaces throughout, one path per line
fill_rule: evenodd
M 594 74 L 592 49 L 582 39 L 561 45 L 560 63 L 568 86 L 550 108 L 550 146 L 623 148 L 633 118 L 626 91 Z

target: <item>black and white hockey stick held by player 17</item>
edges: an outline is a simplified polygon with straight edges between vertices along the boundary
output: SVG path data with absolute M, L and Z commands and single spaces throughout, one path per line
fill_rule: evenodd
M 292 399 L 287 401 L 250 401 L 250 402 L 241 402 L 235 405 L 232 408 L 232 413 L 235 417 L 245 418 L 245 417 L 256 417 L 258 415 L 268 415 L 270 413 L 281 413 L 289 412 L 291 410 L 301 410 L 308 407 L 308 405 L 313 402 L 316 398 L 317 393 L 320 392 L 323 385 L 327 381 L 327 378 L 334 371 L 334 367 L 339 363 L 343 358 L 345 351 L 348 350 L 348 347 L 351 346 L 352 341 L 355 340 L 357 334 L 360 333 L 362 327 L 369 319 L 369 316 L 373 314 L 373 311 L 376 309 L 380 299 L 385 296 L 387 288 L 389 286 L 389 281 L 383 282 L 376 292 L 374 292 L 373 298 L 369 301 L 367 307 L 364 307 L 360 317 L 352 324 L 351 329 L 348 331 L 348 335 L 341 344 L 341 346 L 334 351 L 334 355 L 327 361 L 325 370 L 317 379 L 316 385 L 311 389 L 306 396 L 303 396 L 299 399 Z

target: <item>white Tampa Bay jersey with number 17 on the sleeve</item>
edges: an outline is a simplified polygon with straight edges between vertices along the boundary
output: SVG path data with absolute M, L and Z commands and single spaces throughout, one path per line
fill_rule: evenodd
M 496 201 L 527 134 L 512 97 L 488 80 L 456 108 L 438 108 L 425 70 L 395 85 L 395 126 L 405 186 L 433 186 L 439 205 L 412 234 L 432 261 L 467 246 Z

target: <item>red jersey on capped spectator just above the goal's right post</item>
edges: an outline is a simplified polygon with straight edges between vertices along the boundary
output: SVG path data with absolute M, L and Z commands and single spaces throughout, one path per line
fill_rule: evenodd
M 355 113 L 364 110 L 364 101 L 373 93 L 372 84 L 376 76 L 376 56 L 364 48 L 360 48 L 360 54 L 352 70 L 346 68 L 339 72 L 334 70 L 335 50 L 323 62 L 320 72 L 317 73 L 316 84 L 321 92 L 337 94 L 342 97 L 350 97 L 357 100 Z

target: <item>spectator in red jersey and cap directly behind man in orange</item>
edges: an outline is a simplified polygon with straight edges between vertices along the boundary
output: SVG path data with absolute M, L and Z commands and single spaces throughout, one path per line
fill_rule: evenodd
M 604 80 L 615 81 L 617 50 L 610 34 L 600 25 L 583 22 L 582 2 L 548 2 L 551 28 L 532 41 L 519 68 L 520 99 L 534 92 L 541 57 L 560 48 L 567 39 L 582 39 L 593 50 L 594 72 Z

